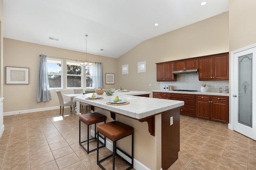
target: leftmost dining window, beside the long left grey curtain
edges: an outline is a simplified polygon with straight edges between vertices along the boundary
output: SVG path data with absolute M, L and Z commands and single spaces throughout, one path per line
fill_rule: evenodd
M 63 88 L 63 71 L 61 59 L 47 59 L 47 71 L 50 88 L 61 89 Z

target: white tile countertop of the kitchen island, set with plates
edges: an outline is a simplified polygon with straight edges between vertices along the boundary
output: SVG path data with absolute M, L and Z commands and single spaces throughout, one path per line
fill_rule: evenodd
M 150 92 L 130 91 L 130 92 L 114 93 L 111 100 L 114 100 L 114 98 L 118 95 L 119 99 L 126 99 L 127 101 L 130 102 L 130 104 L 128 105 L 118 105 L 118 106 L 107 105 L 106 103 L 108 102 L 108 100 L 106 99 L 106 95 L 100 95 L 100 97 L 104 97 L 104 99 L 86 100 L 85 98 L 92 96 L 92 94 L 89 93 L 86 95 L 77 96 L 75 97 L 75 100 L 79 102 L 87 103 L 88 105 L 99 107 L 101 109 L 106 109 L 108 111 L 119 113 L 120 115 L 125 115 L 127 117 L 131 117 L 134 119 L 143 119 L 143 118 L 156 115 L 158 113 L 162 113 L 164 111 L 168 111 L 184 105 L 184 101 L 156 99 L 152 97 L 131 96 L 131 95 L 143 95 L 148 93 Z

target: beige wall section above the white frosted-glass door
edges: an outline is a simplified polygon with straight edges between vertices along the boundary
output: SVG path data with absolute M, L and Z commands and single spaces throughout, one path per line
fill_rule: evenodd
M 255 0 L 229 0 L 230 52 L 256 43 L 255 8 Z

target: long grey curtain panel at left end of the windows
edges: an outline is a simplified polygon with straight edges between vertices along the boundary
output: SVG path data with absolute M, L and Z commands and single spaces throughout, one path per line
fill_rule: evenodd
M 46 55 L 40 55 L 40 66 L 38 75 L 37 102 L 49 101 L 52 99 L 48 80 Z

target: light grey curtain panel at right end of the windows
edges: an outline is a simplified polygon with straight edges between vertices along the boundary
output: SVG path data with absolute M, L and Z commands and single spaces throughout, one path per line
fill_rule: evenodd
M 92 87 L 94 89 L 98 89 L 98 87 L 103 88 L 102 63 L 94 62 L 92 67 Z

